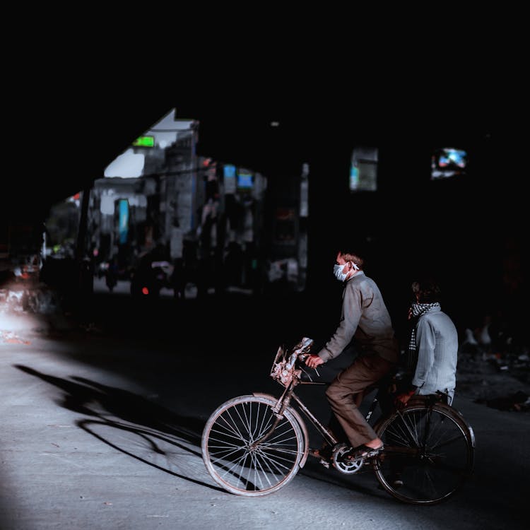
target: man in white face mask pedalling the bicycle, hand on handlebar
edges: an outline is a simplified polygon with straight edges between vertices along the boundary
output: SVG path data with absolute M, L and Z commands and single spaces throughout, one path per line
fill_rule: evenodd
M 359 355 L 339 373 L 326 390 L 326 397 L 338 423 L 351 444 L 346 459 L 372 457 L 383 449 L 382 440 L 360 413 L 363 391 L 389 374 L 397 365 L 399 348 L 391 318 L 375 281 L 363 271 L 358 254 L 338 252 L 334 274 L 343 282 L 341 319 L 333 336 L 305 363 L 316 368 L 338 357 L 355 340 Z

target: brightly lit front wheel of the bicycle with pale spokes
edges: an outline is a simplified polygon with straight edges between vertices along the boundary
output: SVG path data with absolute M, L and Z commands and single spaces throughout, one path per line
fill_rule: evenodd
M 276 422 L 275 402 L 263 396 L 230 399 L 212 413 L 202 434 L 206 469 L 225 490 L 236 495 L 267 495 L 298 473 L 305 440 L 298 421 L 283 412 Z

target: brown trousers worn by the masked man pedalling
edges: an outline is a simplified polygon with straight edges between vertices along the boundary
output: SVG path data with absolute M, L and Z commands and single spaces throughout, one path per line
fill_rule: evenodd
M 394 363 L 376 353 L 361 353 L 351 366 L 337 375 L 326 390 L 331 410 L 352 447 L 377 438 L 375 431 L 360 413 L 358 405 L 363 399 L 364 390 L 387 375 L 394 366 Z

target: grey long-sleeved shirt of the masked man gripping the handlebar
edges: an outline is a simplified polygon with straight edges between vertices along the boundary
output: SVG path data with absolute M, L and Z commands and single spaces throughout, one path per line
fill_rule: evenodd
M 363 271 L 346 280 L 342 294 L 341 321 L 318 355 L 324 362 L 336 358 L 355 338 L 361 351 L 377 353 L 396 363 L 397 341 L 387 306 L 377 284 Z

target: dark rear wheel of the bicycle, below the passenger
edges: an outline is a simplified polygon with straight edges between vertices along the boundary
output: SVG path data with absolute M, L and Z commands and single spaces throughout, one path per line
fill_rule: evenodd
M 441 502 L 473 471 L 473 430 L 448 406 L 408 406 L 384 420 L 376 432 L 384 451 L 375 458 L 375 474 L 401 501 Z

